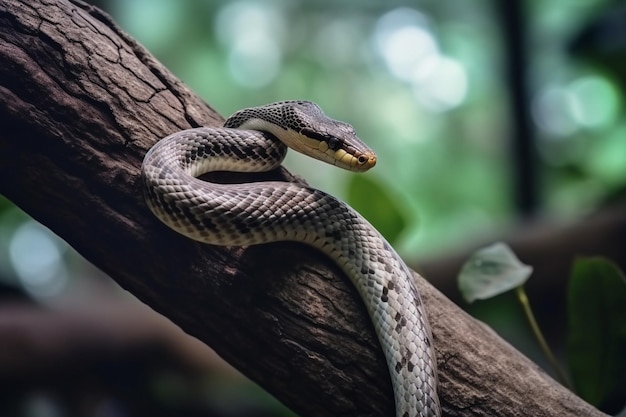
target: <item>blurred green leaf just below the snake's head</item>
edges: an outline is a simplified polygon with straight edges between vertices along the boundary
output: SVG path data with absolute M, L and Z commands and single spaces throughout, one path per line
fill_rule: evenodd
M 348 203 L 393 244 L 407 226 L 404 211 L 389 188 L 364 175 L 353 175 L 348 184 Z

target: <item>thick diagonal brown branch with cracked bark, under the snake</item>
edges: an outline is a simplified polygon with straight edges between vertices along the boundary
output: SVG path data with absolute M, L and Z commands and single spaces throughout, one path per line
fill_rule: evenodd
M 3 0 L 0 63 L 1 193 L 296 412 L 393 415 L 365 308 L 330 261 L 297 244 L 203 246 L 148 211 L 146 150 L 219 125 L 214 110 L 79 1 Z M 446 415 L 602 415 L 417 283 Z

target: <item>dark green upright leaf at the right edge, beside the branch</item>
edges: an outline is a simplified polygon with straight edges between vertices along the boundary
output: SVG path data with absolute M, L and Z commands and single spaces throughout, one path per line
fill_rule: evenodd
M 567 356 L 578 395 L 607 413 L 626 403 L 626 278 L 602 258 L 574 263 Z

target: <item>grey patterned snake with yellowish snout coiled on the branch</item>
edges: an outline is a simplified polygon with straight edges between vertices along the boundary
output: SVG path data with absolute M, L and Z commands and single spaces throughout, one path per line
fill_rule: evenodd
M 326 254 L 366 306 L 391 376 L 396 416 L 440 416 L 425 308 L 412 272 L 381 233 L 346 203 L 307 185 L 197 178 L 212 171 L 270 171 L 287 148 L 353 172 L 377 161 L 350 124 L 310 101 L 280 101 L 236 111 L 221 128 L 195 127 L 159 140 L 142 164 L 146 203 L 171 229 L 199 242 L 296 241 Z

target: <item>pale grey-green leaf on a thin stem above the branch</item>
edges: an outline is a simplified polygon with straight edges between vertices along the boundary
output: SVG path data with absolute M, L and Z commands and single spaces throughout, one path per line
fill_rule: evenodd
M 533 268 L 517 259 L 504 243 L 479 249 L 465 262 L 459 273 L 459 290 L 472 303 L 510 291 L 524 284 Z

